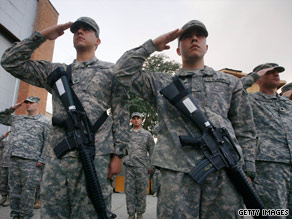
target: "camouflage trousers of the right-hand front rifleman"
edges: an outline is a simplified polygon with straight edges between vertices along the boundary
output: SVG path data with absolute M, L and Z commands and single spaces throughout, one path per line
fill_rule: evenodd
M 160 169 L 157 201 L 159 219 L 241 218 L 243 200 L 225 170 L 217 171 L 198 185 L 188 174 Z

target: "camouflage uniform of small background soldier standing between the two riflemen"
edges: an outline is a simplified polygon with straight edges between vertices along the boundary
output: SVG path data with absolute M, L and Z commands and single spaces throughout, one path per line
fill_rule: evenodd
M 128 155 L 123 160 L 127 212 L 129 215 L 143 214 L 146 210 L 148 169 L 152 169 L 149 157 L 153 153 L 155 143 L 151 133 L 143 128 L 131 129 L 130 139 Z

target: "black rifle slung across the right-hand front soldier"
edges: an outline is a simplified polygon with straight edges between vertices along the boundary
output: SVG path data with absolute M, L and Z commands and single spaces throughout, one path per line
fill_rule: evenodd
M 160 93 L 202 132 L 199 138 L 179 137 L 183 147 L 199 146 L 206 157 L 190 171 L 190 177 L 201 184 L 211 173 L 225 168 L 232 184 L 241 194 L 245 206 L 248 209 L 260 209 L 259 216 L 255 218 L 270 218 L 262 215 L 265 206 L 239 166 L 241 155 L 227 129 L 217 128 L 207 120 L 197 100 L 178 77 L 174 77 L 173 83 L 163 88 Z

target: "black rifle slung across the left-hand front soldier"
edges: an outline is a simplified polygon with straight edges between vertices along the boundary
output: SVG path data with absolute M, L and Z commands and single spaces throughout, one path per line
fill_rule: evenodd
M 82 110 L 83 107 L 81 103 L 76 105 L 76 101 L 78 102 L 79 100 L 69 85 L 67 75 L 68 74 L 64 68 L 59 67 L 48 77 L 49 85 L 58 94 L 58 97 L 68 114 L 67 119 L 56 117 L 53 117 L 52 119 L 53 125 L 65 128 L 67 133 L 65 139 L 54 148 L 54 152 L 58 158 L 61 158 L 68 151 L 74 149 L 79 151 L 86 179 L 87 195 L 94 206 L 98 218 L 116 218 L 116 215 L 106 208 L 93 163 L 95 157 L 95 133 L 92 133 L 90 121 L 86 112 Z M 75 98 L 72 94 L 75 95 Z

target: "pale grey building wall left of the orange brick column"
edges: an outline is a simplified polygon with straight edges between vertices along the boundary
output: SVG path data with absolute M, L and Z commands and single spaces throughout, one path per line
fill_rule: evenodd
M 0 1 L 0 56 L 12 43 L 24 39 L 33 31 L 36 0 Z M 0 67 L 0 110 L 17 102 L 19 80 Z M 0 134 L 8 127 L 0 125 Z

